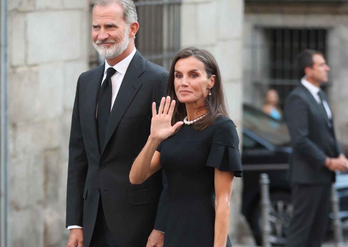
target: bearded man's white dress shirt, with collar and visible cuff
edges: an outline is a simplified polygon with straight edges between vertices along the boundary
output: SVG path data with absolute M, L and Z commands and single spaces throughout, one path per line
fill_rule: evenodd
M 125 77 L 125 74 L 126 74 L 126 71 L 128 69 L 129 63 L 130 63 L 130 61 L 132 61 L 135 52 L 136 52 L 136 48 L 134 47 L 133 51 L 124 60 L 120 61 L 119 63 L 115 64 L 112 67 L 112 68 L 114 68 L 116 70 L 116 73 L 111 76 L 111 84 L 112 84 L 111 109 L 112 109 L 113 103 L 115 102 L 118 90 L 120 89 L 122 80 Z M 108 64 L 108 62 L 106 62 L 106 59 L 105 59 L 104 76 L 103 76 L 103 79 L 101 81 L 100 86 L 103 84 L 103 82 L 104 82 L 104 80 L 106 78 L 106 71 L 110 67 L 111 66 Z M 110 109 L 110 111 L 111 111 L 111 109 Z M 70 226 L 68 226 L 68 230 L 71 230 L 71 229 L 74 229 L 74 228 L 82 229 L 82 227 L 78 226 L 78 225 L 70 225 Z

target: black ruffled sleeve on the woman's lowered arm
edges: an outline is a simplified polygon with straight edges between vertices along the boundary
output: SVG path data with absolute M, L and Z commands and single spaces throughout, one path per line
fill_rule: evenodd
M 223 117 L 223 121 L 215 124 L 212 147 L 206 165 L 221 171 L 233 171 L 235 177 L 242 177 L 242 161 L 238 145 L 239 138 L 235 124 Z

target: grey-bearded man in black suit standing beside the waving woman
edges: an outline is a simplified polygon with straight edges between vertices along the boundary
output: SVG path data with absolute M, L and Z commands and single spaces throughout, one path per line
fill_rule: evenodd
M 129 171 L 150 134 L 151 103 L 159 105 L 164 96 L 168 72 L 135 49 L 139 24 L 133 1 L 97 0 L 92 19 L 93 44 L 105 63 L 82 73 L 77 83 L 69 143 L 68 247 L 161 246 L 164 233 L 153 230 L 161 171 L 141 185 L 130 184 Z M 165 217 L 158 218 L 156 229 L 164 231 Z

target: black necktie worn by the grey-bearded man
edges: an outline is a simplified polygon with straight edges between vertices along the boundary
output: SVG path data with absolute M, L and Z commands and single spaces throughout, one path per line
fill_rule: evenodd
M 105 141 L 106 125 L 108 125 L 108 119 L 111 111 L 111 98 L 112 98 L 112 84 L 111 76 L 115 74 L 116 70 L 112 67 L 108 68 L 106 72 L 106 78 L 100 87 L 98 96 L 98 109 L 97 109 L 97 124 L 98 124 L 98 137 L 99 137 L 99 149 L 102 152 Z

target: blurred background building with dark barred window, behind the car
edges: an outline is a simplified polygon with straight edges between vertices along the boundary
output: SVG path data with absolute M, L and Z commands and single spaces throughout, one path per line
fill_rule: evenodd
M 274 88 L 279 105 L 299 84 L 296 55 L 304 48 L 324 53 L 331 67 L 325 86 L 336 134 L 348 143 L 347 0 L 245 0 L 244 102 L 261 107 Z

